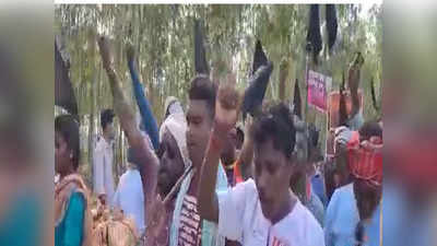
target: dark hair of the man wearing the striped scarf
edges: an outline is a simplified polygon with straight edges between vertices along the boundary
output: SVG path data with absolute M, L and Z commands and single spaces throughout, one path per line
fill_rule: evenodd
M 201 99 L 206 102 L 211 117 L 215 115 L 215 96 L 217 86 L 210 81 L 208 77 L 197 75 L 191 81 L 191 87 L 188 92 L 189 99 Z

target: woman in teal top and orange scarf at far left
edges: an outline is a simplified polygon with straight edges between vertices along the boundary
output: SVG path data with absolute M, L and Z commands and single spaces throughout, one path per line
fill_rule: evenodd
M 55 246 L 81 246 L 90 235 L 86 225 L 87 190 L 79 167 L 79 124 L 71 115 L 55 118 Z

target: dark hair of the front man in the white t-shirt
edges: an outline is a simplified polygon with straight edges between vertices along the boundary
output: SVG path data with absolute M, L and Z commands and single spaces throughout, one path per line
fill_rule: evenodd
M 271 139 L 276 150 L 282 151 L 287 159 L 292 157 L 296 142 L 296 130 L 292 114 L 283 103 L 270 107 L 267 114 L 256 119 L 250 133 L 256 145 Z

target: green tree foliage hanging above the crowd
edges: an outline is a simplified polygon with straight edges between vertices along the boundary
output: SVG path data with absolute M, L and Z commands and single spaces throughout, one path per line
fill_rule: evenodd
M 323 26 L 324 7 L 320 11 Z M 146 96 L 161 121 L 167 96 L 177 96 L 184 104 L 187 102 L 187 90 L 194 74 L 194 17 L 203 20 L 206 57 L 212 70 L 223 73 L 233 63 L 237 86 L 244 90 L 255 43 L 259 38 L 274 63 L 267 99 L 279 98 L 279 68 L 283 61 L 288 65 L 285 97 L 292 99 L 294 82 L 298 79 L 305 102 L 307 15 L 308 5 L 304 4 L 62 4 L 55 7 L 55 33 L 64 36 L 71 56 L 71 79 L 82 117 L 111 106 L 107 78 L 95 45 L 95 36 L 106 34 L 113 38 L 117 70 L 132 99 L 125 45 L 127 42 L 134 45 Z M 346 71 L 354 52 L 362 51 L 365 57 L 361 83 L 365 92 L 364 113 L 366 118 L 374 118 L 380 112 L 371 106 L 369 86 L 374 78 L 380 102 L 381 5 L 365 10 L 363 5 L 341 4 L 338 5 L 338 20 L 340 31 L 333 54 L 328 55 L 323 46 L 321 65 L 312 69 L 330 74 L 333 89 L 338 90 L 341 74 Z M 323 116 L 311 114 L 311 120 L 323 129 Z M 95 118 L 94 126 L 97 126 L 98 117 Z

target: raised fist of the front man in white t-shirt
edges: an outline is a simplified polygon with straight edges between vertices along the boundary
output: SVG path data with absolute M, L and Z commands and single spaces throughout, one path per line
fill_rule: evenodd
M 235 74 L 229 73 L 227 81 L 221 83 L 215 103 L 214 131 L 218 137 L 227 136 L 227 132 L 237 122 L 240 98 L 235 90 Z

